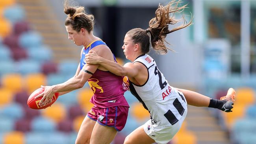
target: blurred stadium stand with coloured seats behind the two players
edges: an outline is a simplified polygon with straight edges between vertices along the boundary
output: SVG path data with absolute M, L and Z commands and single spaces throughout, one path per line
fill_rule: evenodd
M 148 28 L 159 3 L 168 0 L 74 0 L 95 16 L 94 34 L 123 65 L 121 46 L 132 28 Z M 211 98 L 236 89 L 232 113 L 188 107 L 182 129 L 169 144 L 256 144 L 256 1 L 183 0 L 193 25 L 167 35 L 175 52 L 150 55 L 170 85 Z M 87 84 L 47 109 L 27 106 L 40 85 L 74 76 L 82 47 L 68 40 L 62 0 L 0 0 L 0 144 L 74 144 L 93 92 Z M 182 24 L 182 23 L 179 23 Z M 178 25 L 179 25 L 178 24 Z M 177 26 L 177 25 L 175 25 Z M 169 26 L 169 29 L 175 26 Z M 130 92 L 126 127 L 112 144 L 149 119 Z

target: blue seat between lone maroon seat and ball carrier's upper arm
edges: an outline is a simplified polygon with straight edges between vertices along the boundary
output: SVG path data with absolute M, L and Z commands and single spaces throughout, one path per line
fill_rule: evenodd
M 70 60 L 62 61 L 61 63 L 59 63 L 59 73 L 72 77 L 76 74 L 76 69 L 78 64 L 79 62 L 77 61 L 70 61 Z

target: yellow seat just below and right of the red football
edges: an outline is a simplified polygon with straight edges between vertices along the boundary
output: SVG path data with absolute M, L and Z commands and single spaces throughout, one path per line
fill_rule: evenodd
M 51 107 L 47 107 L 42 114 L 58 123 L 66 117 L 67 112 L 63 104 L 56 102 Z

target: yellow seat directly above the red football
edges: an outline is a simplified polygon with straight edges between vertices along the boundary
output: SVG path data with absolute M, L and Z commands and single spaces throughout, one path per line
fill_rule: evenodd
M 32 93 L 36 89 L 39 89 L 41 85 L 46 84 L 46 78 L 44 74 L 28 74 L 24 81 L 29 93 Z

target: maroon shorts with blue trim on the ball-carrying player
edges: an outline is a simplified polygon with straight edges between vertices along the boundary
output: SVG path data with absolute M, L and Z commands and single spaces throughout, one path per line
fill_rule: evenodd
M 108 108 L 94 106 L 87 113 L 87 116 L 102 126 L 115 127 L 117 131 L 121 131 L 126 124 L 128 109 L 129 107 L 126 106 Z

